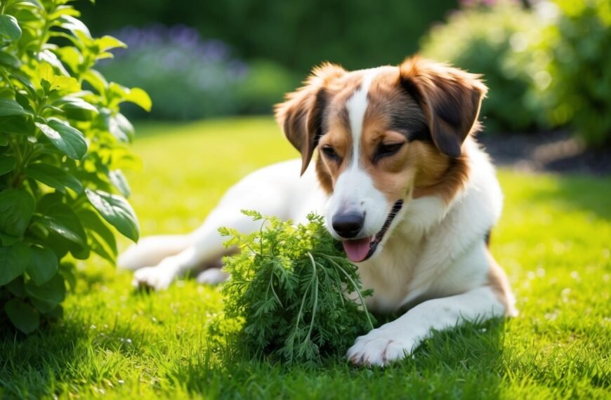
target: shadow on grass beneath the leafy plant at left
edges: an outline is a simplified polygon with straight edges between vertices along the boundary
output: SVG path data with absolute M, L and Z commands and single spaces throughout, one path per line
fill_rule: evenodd
M 57 398 L 68 395 L 65 387 L 114 379 L 116 371 L 126 368 L 126 356 L 141 352 L 128 338 L 138 333 L 130 327 L 96 331 L 82 315 L 44 325 L 31 335 L 5 326 L 0 329 L 0 397 Z

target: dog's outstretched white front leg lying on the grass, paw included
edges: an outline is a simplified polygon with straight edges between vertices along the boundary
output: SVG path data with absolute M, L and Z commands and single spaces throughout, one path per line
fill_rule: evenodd
M 390 361 L 412 354 L 432 330 L 441 331 L 463 321 L 502 316 L 504 305 L 490 287 L 482 287 L 461 295 L 422 302 L 395 321 L 357 338 L 346 356 L 354 364 L 386 366 Z

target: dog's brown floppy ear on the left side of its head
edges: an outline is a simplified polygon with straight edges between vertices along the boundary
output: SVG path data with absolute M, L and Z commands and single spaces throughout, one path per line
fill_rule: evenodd
M 324 109 L 329 98 L 326 86 L 345 73 L 343 68 L 330 63 L 316 67 L 301 88 L 287 94 L 284 102 L 275 106 L 276 121 L 291 145 L 301 152 L 302 175 L 322 135 Z

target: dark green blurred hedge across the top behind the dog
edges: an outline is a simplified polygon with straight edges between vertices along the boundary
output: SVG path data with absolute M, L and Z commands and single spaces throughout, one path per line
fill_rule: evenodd
M 325 60 L 348 69 L 398 62 L 455 5 L 456 0 L 104 0 L 95 6 L 84 2 L 83 18 L 96 32 L 180 21 L 229 44 L 242 60 L 265 58 L 305 76 Z

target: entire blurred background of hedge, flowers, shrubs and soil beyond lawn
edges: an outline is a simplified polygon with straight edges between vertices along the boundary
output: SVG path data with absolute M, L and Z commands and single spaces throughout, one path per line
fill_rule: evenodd
M 92 34 L 129 48 L 99 69 L 150 93 L 131 119 L 271 114 L 325 60 L 347 69 L 412 53 L 483 74 L 481 138 L 527 168 L 611 171 L 609 0 L 100 0 Z

